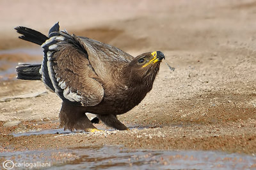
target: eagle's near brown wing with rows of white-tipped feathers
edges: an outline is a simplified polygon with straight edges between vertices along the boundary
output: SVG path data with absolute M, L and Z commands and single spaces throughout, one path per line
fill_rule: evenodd
M 49 33 L 49 40 L 42 47 L 43 81 L 60 98 L 84 106 L 97 105 L 102 101 L 104 89 L 99 82 L 100 77 L 76 36 L 54 30 Z

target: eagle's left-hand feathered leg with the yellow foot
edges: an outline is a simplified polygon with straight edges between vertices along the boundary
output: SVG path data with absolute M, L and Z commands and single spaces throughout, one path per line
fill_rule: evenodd
M 85 115 L 84 107 L 62 103 L 60 110 L 60 126 L 64 130 L 84 130 L 85 132 L 99 131 Z

